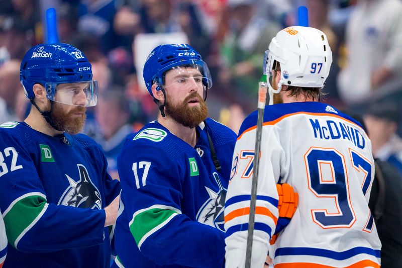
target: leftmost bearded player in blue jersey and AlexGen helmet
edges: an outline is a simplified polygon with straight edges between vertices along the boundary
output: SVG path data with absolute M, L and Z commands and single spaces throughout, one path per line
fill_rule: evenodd
M 96 105 L 91 65 L 70 45 L 37 45 L 21 82 L 30 114 L 0 125 L 4 267 L 109 267 L 120 184 L 100 147 L 77 134 Z

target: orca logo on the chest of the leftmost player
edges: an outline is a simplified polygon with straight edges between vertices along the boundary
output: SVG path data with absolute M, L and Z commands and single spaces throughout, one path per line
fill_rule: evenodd
M 91 182 L 86 167 L 77 164 L 79 180 L 76 182 L 69 175 L 65 174 L 69 186 L 61 196 L 57 205 L 71 206 L 75 208 L 102 209 L 102 200 L 99 190 Z

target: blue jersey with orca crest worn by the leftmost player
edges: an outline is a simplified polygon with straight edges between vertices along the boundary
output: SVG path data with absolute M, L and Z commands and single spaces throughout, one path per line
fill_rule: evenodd
M 100 147 L 85 135 L 48 136 L 0 125 L 4 267 L 109 267 L 105 211 L 120 193 Z

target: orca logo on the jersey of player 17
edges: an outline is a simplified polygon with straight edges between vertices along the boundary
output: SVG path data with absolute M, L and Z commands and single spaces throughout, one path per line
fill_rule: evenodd
M 199 209 L 195 219 L 200 223 L 204 223 L 221 231 L 225 231 L 224 208 L 226 193 L 228 190 L 223 188 L 221 181 L 219 180 L 218 173 L 214 172 L 213 175 L 218 184 L 219 191 L 215 192 L 212 189 L 205 187 L 210 198 Z

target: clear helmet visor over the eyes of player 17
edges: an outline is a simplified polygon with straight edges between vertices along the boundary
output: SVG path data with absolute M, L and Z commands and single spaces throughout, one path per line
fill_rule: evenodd
M 184 63 L 185 61 L 183 61 Z M 160 81 L 154 79 L 154 83 Z M 197 63 L 189 62 L 179 66 L 173 66 L 164 75 L 164 88 L 172 85 L 176 86 L 193 86 L 197 85 L 200 88 L 209 89 L 212 87 L 212 78 L 208 66 L 203 61 L 197 61 Z

